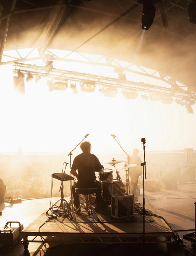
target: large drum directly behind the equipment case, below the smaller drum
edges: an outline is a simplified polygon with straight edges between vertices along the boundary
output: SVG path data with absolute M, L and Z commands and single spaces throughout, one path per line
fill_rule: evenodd
M 125 185 L 117 179 L 103 180 L 102 191 L 103 200 L 111 203 L 111 195 L 118 195 L 125 192 Z

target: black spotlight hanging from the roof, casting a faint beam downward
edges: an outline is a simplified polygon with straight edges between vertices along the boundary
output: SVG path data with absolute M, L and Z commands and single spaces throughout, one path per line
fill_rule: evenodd
M 154 21 L 156 8 L 154 5 L 143 5 L 143 13 L 141 18 L 141 28 L 144 30 L 148 30 Z

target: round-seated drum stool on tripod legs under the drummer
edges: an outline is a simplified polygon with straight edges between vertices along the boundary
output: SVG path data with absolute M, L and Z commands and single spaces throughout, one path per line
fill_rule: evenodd
M 81 205 L 78 207 L 78 209 L 76 210 L 76 212 L 73 214 L 73 216 L 70 218 L 70 220 L 73 219 L 73 217 L 76 215 L 76 213 L 78 212 L 79 209 L 86 209 L 86 212 L 89 214 L 89 210 L 91 209 L 91 211 L 93 211 L 95 213 L 95 215 L 97 216 L 96 211 L 94 210 L 93 206 L 91 205 L 91 203 L 89 202 L 89 194 L 94 194 L 98 191 L 98 188 L 76 188 L 75 192 L 77 194 L 83 194 L 86 195 L 86 199 L 84 200 L 83 203 L 81 203 Z M 86 203 L 86 207 L 82 207 L 84 205 L 84 203 Z M 100 221 L 100 219 L 97 216 L 97 221 Z

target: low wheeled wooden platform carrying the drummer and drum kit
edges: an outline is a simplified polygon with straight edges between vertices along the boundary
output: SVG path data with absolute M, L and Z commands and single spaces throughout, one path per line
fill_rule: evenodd
M 150 203 L 146 209 L 156 210 Z M 97 222 L 93 215 L 85 216 L 85 212 L 78 215 L 77 219 L 57 218 L 48 220 L 48 216 L 41 214 L 35 221 L 22 230 L 23 245 L 29 242 L 55 242 L 60 238 L 65 243 L 142 243 L 143 222 L 141 215 L 126 219 L 116 220 L 104 214 L 98 214 L 101 222 Z M 47 221 L 38 231 L 39 227 Z M 145 219 L 145 241 L 147 243 L 169 243 L 173 232 L 170 227 L 158 217 Z

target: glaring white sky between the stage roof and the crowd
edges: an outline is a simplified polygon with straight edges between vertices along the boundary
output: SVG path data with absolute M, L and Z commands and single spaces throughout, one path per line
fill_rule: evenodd
M 42 65 L 43 61 L 34 63 Z M 60 61 L 55 61 L 53 66 L 118 77 L 111 67 Z M 158 79 L 125 73 L 128 80 L 167 86 Z M 140 96 L 127 100 L 121 90 L 115 98 L 105 97 L 98 87 L 93 93 L 78 89 L 77 95 L 70 88 L 49 92 L 45 78 L 38 84 L 34 80 L 26 82 L 26 94 L 19 95 L 13 86 L 12 65 L 1 66 L 0 75 L 0 152 L 17 152 L 18 148 L 23 152 L 70 151 L 87 133 L 95 154 L 121 153 L 110 134 L 118 136 L 128 152 L 133 148 L 142 150 L 141 138 L 146 138 L 148 151 L 196 148 L 196 105 L 193 105 L 194 114 L 188 114 L 175 102 L 165 105 Z

